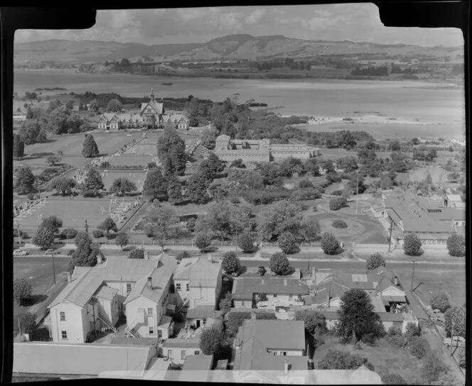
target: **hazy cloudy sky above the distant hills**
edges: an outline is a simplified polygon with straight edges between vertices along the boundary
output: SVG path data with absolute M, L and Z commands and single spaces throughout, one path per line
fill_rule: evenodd
M 151 45 L 205 43 L 233 33 L 424 46 L 463 44 L 456 28 L 384 27 L 374 4 L 97 11 L 97 23 L 88 30 L 22 30 L 16 32 L 15 41 L 104 40 Z

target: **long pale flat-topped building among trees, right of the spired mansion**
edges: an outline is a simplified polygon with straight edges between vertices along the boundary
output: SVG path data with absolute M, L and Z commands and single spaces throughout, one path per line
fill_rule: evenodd
M 272 145 L 268 139 L 247 140 L 218 136 L 215 140 L 215 155 L 222 161 L 243 160 L 244 162 L 269 162 L 284 158 L 307 159 L 318 155 L 318 148 L 304 144 Z

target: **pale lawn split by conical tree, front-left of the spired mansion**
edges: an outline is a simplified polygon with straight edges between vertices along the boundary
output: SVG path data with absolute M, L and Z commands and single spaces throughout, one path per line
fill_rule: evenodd
M 113 133 L 92 133 L 97 143 L 100 154 L 112 154 L 122 148 L 127 143 L 132 143 L 133 139 L 139 138 L 141 133 L 132 133 L 127 136 L 126 132 Z M 58 153 L 62 151 L 66 156 L 80 156 L 82 158 L 82 145 L 85 134 L 67 134 L 64 136 L 50 136 L 46 143 L 35 143 L 25 148 L 26 154 L 31 153 Z

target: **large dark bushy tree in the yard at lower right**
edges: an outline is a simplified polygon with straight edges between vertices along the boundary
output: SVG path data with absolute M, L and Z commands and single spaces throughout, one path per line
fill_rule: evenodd
M 338 311 L 338 334 L 345 341 L 356 343 L 367 334 L 380 331 L 380 316 L 375 313 L 374 305 L 363 289 L 349 289 L 341 297 L 341 306 Z

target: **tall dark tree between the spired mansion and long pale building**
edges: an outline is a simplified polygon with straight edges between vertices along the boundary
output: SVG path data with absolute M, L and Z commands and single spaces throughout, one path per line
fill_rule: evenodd
M 174 128 L 165 128 L 157 140 L 157 155 L 164 165 L 164 175 L 184 174 L 187 162 L 186 144 Z

